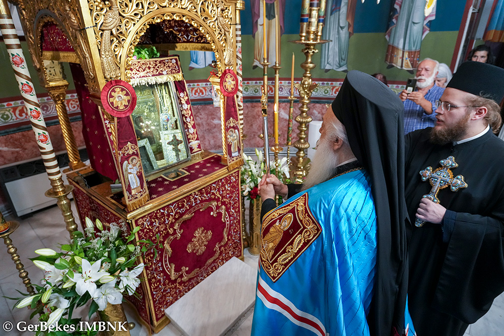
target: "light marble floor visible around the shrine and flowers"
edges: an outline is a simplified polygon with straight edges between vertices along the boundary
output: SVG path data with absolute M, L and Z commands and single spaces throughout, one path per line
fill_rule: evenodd
M 73 207 L 74 214 L 75 207 Z M 61 213 L 57 207 L 47 208 L 36 212 L 30 217 L 23 219 L 7 217 L 8 220 L 16 220 L 20 222 L 19 229 L 11 235 L 14 246 L 18 249 L 18 254 L 21 261 L 28 271 L 30 279 L 35 283 L 42 278 L 42 271 L 39 270 L 28 258 L 35 257 L 33 252 L 35 249 L 42 247 L 56 247 L 56 243 L 64 243 L 69 235 L 65 229 L 65 224 L 62 220 Z M 244 261 L 256 268 L 258 258 L 244 251 Z M 18 277 L 18 271 L 10 255 L 4 247 L 4 251 L 0 251 L 0 335 L 15 336 L 15 335 L 33 335 L 30 331 L 11 331 L 6 332 L 3 328 L 5 322 L 12 322 L 16 325 L 18 322 L 25 321 L 34 323 L 35 319 L 30 320 L 30 311 L 26 308 L 13 308 L 14 301 L 5 297 L 19 297 L 16 290 L 24 291 L 23 283 Z M 225 295 L 225 294 L 223 294 Z M 129 321 L 134 321 L 137 326 L 131 331 L 132 336 L 146 336 L 148 330 L 142 326 L 135 316 L 133 309 L 129 306 L 125 308 Z M 488 313 L 476 323 L 469 326 L 465 335 L 468 336 L 483 336 L 483 335 L 501 335 L 504 334 L 504 294 L 497 297 L 493 306 Z M 232 336 L 245 336 L 250 334 L 252 324 L 252 315 L 243 321 L 239 328 L 232 333 Z M 166 326 L 157 335 L 160 336 L 180 336 L 182 333 L 173 324 Z M 195 335 L 198 336 L 198 335 Z M 423 335 L 420 335 L 423 336 Z

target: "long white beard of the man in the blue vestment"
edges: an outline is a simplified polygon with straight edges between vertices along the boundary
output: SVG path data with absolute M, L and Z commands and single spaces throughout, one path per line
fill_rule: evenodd
M 302 190 L 311 188 L 331 178 L 340 164 L 338 152 L 333 150 L 334 141 L 319 140 L 317 151 L 311 161 L 310 171 L 303 182 Z

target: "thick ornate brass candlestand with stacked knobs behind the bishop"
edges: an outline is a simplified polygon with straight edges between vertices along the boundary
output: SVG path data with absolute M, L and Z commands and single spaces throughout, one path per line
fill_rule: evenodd
M 299 124 L 297 129 L 297 140 L 294 143 L 294 147 L 297 148 L 296 157 L 291 159 L 291 180 L 295 183 L 302 183 L 303 178 L 308 172 L 309 159 L 306 158 L 306 150 L 310 147 L 310 144 L 305 141 L 306 130 L 308 129 L 307 124 L 312 120 L 311 116 L 308 115 L 308 104 L 310 103 L 311 93 L 318 84 L 313 83 L 311 80 L 311 70 L 315 68 L 315 64 L 311 61 L 311 57 L 314 53 L 319 52 L 316 49 L 317 44 L 322 44 L 329 42 L 327 40 L 320 40 L 318 37 L 318 18 L 319 18 L 319 7 L 309 8 L 309 24 L 307 25 L 307 36 L 303 39 L 302 34 L 299 34 L 300 40 L 293 41 L 294 43 L 304 44 L 305 48 L 302 50 L 306 56 L 306 60 L 301 63 L 301 68 L 304 70 L 303 78 L 301 83 L 296 83 L 296 89 L 299 91 L 299 102 L 301 107 L 299 107 L 300 114 L 296 117 L 296 122 Z

